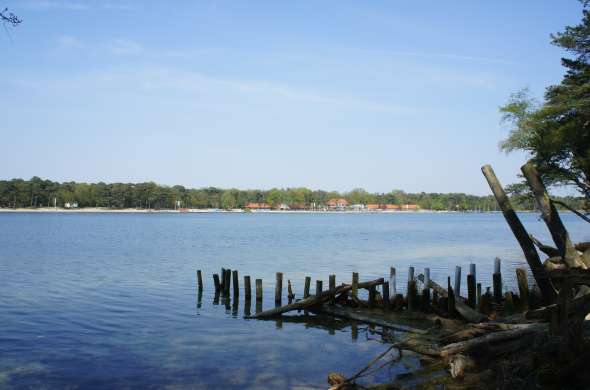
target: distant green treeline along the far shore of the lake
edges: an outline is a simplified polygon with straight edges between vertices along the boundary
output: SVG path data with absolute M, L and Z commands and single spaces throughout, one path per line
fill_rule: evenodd
M 363 189 L 350 192 L 287 188 L 271 190 L 238 190 L 221 188 L 191 189 L 183 186 L 162 186 L 149 183 L 58 183 L 33 177 L 30 180 L 0 181 L 0 207 L 64 207 L 77 203 L 78 207 L 109 208 L 243 208 L 250 202 L 267 203 L 272 207 L 281 204 L 292 208 L 321 208 L 333 198 L 344 198 L 349 204 L 417 204 L 429 210 L 497 210 L 493 196 L 475 196 L 462 193 L 417 193 L 401 190 L 388 193 L 369 193 Z M 576 209 L 582 209 L 583 199 L 560 198 Z M 533 200 L 526 195 L 512 197 L 519 210 L 532 210 Z M 178 203 L 180 202 L 180 203 Z

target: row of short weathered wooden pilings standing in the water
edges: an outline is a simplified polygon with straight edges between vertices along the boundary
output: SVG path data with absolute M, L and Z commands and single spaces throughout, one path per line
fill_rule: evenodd
M 337 290 L 336 275 L 329 275 L 328 290 L 324 291 L 323 281 L 316 280 L 315 291 L 312 295 L 311 285 L 312 278 L 305 277 L 302 299 L 321 297 L 328 294 L 326 300 L 330 305 L 338 303 L 348 304 L 361 308 L 378 308 L 381 307 L 385 311 L 430 311 L 433 308 L 439 311 L 446 312 L 449 315 L 459 314 L 466 317 L 466 307 L 479 313 L 490 313 L 497 307 L 498 304 L 503 303 L 503 311 L 511 312 L 516 309 L 526 311 L 530 306 L 531 294 L 529 293 L 528 281 L 526 271 L 523 268 L 516 269 L 516 280 L 518 282 L 519 294 L 514 294 L 511 291 L 503 292 L 503 282 L 501 273 L 500 259 L 494 260 L 494 272 L 492 275 L 492 286 L 486 287 L 482 291 L 482 284 L 477 282 L 476 265 L 474 263 L 469 265 L 469 273 L 466 275 L 467 295 L 465 298 L 461 295 L 461 273 L 462 268 L 457 266 L 455 268 L 454 283 L 451 283 L 451 277 L 447 277 L 446 289 L 430 278 L 430 268 L 424 268 L 423 274 L 416 275 L 415 268 L 410 266 L 408 268 L 408 279 L 406 282 L 405 295 L 398 289 L 399 279 L 397 278 L 396 268 L 390 267 L 389 277 L 379 279 L 377 282 L 373 281 L 367 287 L 363 286 L 368 291 L 368 299 L 363 300 L 359 295 L 359 285 L 362 284 L 359 280 L 359 273 L 353 272 L 350 292 L 345 294 Z M 283 273 L 277 272 L 275 279 L 275 307 L 282 304 L 284 287 L 283 287 Z M 228 298 L 233 296 L 234 301 L 240 296 L 240 280 L 239 272 L 228 268 L 222 268 L 219 274 L 213 274 L 213 283 L 215 286 L 215 296 L 218 299 L 220 296 Z M 260 305 L 257 305 L 256 312 L 259 313 L 262 308 L 263 301 L 263 280 L 255 279 L 255 300 Z M 342 284 L 341 286 L 344 286 Z M 381 291 L 377 288 L 381 287 Z M 197 289 L 199 293 L 203 291 L 203 275 L 201 270 L 197 270 Z M 243 277 L 243 294 L 246 302 L 252 300 L 252 286 L 251 277 L 245 275 Z M 325 294 L 324 294 L 325 293 Z M 350 295 L 349 295 L 350 293 Z M 293 293 L 293 286 L 291 280 L 287 280 L 287 298 L 289 304 L 295 300 Z M 301 301 L 301 299 L 296 302 Z M 314 303 L 313 299 L 310 303 Z M 325 303 L 316 302 L 316 303 Z M 460 306 L 457 308 L 457 306 Z M 280 314 L 280 313 L 279 313 Z M 469 313 L 467 313 L 469 314 Z M 469 318 L 466 318 L 469 320 Z

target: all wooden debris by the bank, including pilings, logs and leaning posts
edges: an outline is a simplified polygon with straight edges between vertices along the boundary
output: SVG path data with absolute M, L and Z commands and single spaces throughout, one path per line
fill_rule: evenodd
M 317 279 L 313 295 L 310 291 L 312 279 L 306 276 L 301 294 L 303 298 L 299 300 L 294 300 L 294 288 L 288 279 L 289 303 L 281 305 L 283 273 L 278 272 L 275 282 L 276 306 L 262 310 L 262 279 L 256 279 L 256 313 L 251 314 L 248 308 L 245 317 L 274 319 L 278 327 L 279 322 L 282 324 L 282 319 L 289 322 L 289 319 L 294 318 L 281 317 L 284 314 L 304 311 L 329 315 L 340 319 L 339 321 L 354 321 L 355 325 L 351 328 L 353 339 L 358 334 L 357 322 L 383 327 L 384 334 L 385 329 L 390 329 L 409 335 L 402 339 L 392 338 L 386 352 L 348 379 L 340 374 L 330 374 L 333 389 L 355 388 L 356 380 L 374 371 L 370 369 L 372 366 L 379 364 L 385 367 L 388 361 L 383 360 L 390 359 L 389 362 L 393 362 L 396 359 L 389 356 L 391 350 L 398 350 L 400 353 L 401 350 L 412 351 L 435 359 L 446 367 L 449 377 L 464 377 L 466 381 L 470 377 L 475 383 L 484 374 L 489 378 L 490 361 L 516 353 L 527 354 L 533 348 L 538 348 L 535 345 L 559 345 L 557 354 L 562 360 L 564 356 L 571 355 L 572 351 L 579 351 L 586 345 L 582 332 L 589 327 L 589 322 L 584 322 L 584 317 L 590 313 L 590 243 L 576 244 L 571 241 L 533 166 L 526 164 L 522 167 L 522 172 L 533 190 L 555 246 L 543 244 L 528 234 L 492 168 L 484 166 L 482 171 L 523 251 L 537 288 L 529 288 L 527 270 L 518 268 L 515 286 L 518 290 L 507 291 L 502 263 L 496 258 L 490 259 L 493 261 L 493 273 L 487 278 L 481 278 L 476 273 L 475 264 L 470 264 L 464 281 L 461 277 L 462 269 L 457 266 L 453 283 L 451 275 L 446 277 L 443 283 L 446 288 L 431 278 L 429 268 L 425 268 L 423 273 L 418 270 L 415 275 L 415 268 L 410 267 L 405 295 L 397 288 L 399 275 L 394 267 L 390 267 L 386 278 L 369 281 L 362 281 L 359 273 L 353 272 L 350 282 L 340 285 L 336 285 L 336 276 L 331 274 L 328 290 L 324 291 L 323 281 Z M 544 261 L 541 260 L 537 248 L 541 254 L 548 256 Z M 234 300 L 238 299 L 238 271 L 232 272 L 226 268 L 222 268 L 220 275 L 213 275 L 216 299 L 220 293 L 229 295 L 232 275 Z M 507 280 L 509 279 L 511 278 Z M 482 280 L 491 280 L 491 286 L 482 284 Z M 467 291 L 464 292 L 466 296 L 461 296 L 462 282 L 467 286 Z M 405 285 L 405 281 L 401 285 Z M 201 270 L 197 272 L 197 289 L 199 293 L 203 289 Z M 244 277 L 244 291 L 246 300 L 249 300 L 249 276 L 247 279 Z M 537 291 L 540 291 L 540 296 Z M 225 302 L 227 305 L 228 301 Z M 404 316 L 434 318 L 438 326 L 419 328 L 396 320 Z M 298 316 L 293 322 L 305 321 L 304 317 L 306 316 Z M 310 318 L 317 320 L 316 316 Z M 448 321 L 453 324 L 453 328 L 445 325 Z M 539 340 L 542 342 L 539 343 Z M 443 367 L 439 363 L 435 366 Z

